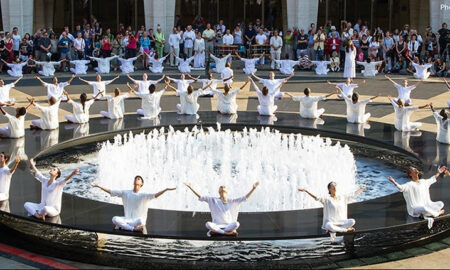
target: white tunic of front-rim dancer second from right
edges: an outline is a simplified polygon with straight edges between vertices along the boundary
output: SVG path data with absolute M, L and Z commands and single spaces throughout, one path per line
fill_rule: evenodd
M 317 201 L 323 204 L 322 229 L 326 230 L 325 225 L 328 222 L 333 224 L 342 224 L 347 220 L 347 204 L 354 198 L 354 195 L 338 195 L 336 199 L 330 195 L 317 198 Z

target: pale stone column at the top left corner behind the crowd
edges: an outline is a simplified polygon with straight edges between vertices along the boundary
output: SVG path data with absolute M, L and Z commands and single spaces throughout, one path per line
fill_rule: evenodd
M 33 33 L 34 0 L 1 0 L 3 30 L 19 29 L 19 34 Z

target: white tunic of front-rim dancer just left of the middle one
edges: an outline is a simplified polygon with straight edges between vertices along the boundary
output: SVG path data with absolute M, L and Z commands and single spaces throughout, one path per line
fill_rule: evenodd
M 140 218 L 142 225 L 147 223 L 148 203 L 156 194 L 134 192 L 133 190 L 111 190 L 111 196 L 122 198 L 126 219 Z

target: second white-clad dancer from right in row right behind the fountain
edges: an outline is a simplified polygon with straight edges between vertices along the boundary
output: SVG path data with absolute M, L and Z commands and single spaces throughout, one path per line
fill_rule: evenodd
M 397 99 L 397 101 L 392 100 L 391 97 L 388 98 L 391 101 L 392 106 L 394 106 L 395 111 L 394 126 L 397 130 L 414 131 L 418 130 L 419 127 L 422 126 L 422 123 L 411 122 L 410 121 L 411 115 L 419 109 L 428 107 L 430 104 L 417 107 L 405 104 L 403 99 L 401 98 Z

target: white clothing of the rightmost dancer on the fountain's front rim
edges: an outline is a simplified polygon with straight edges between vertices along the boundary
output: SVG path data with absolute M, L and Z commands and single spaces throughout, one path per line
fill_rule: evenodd
M 429 179 L 420 179 L 418 182 L 409 181 L 406 184 L 399 185 L 398 189 L 403 192 L 410 216 L 419 217 L 422 213 L 415 210 L 422 207 L 436 212 L 442 209 L 442 202 L 433 202 L 430 198 L 430 186 L 434 183 L 436 183 L 436 177 L 433 176 Z

